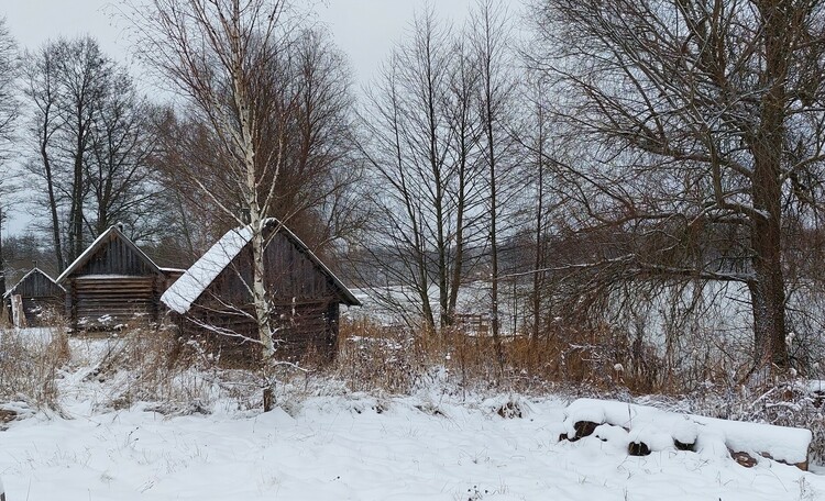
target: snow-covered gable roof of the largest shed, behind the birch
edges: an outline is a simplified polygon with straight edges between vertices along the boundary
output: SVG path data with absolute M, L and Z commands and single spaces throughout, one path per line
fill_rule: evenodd
M 295 246 L 307 255 L 310 261 L 320 268 L 339 290 L 349 305 L 361 305 L 361 302 L 353 296 L 350 289 L 336 277 L 327 265 L 298 238 L 295 233 L 280 224 L 275 218 L 268 218 L 264 221 L 266 226 L 275 225 L 278 233 L 285 235 Z M 252 241 L 252 227 L 250 225 L 240 226 L 228 231 L 212 247 L 204 254 L 186 272 L 173 283 L 161 297 L 163 301 L 173 311 L 184 314 L 189 311 L 191 304 L 200 298 L 206 289 L 216 278 L 232 263 L 241 250 Z

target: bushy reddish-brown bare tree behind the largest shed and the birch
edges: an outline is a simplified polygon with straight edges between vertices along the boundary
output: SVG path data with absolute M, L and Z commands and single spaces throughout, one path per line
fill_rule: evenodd
M 295 29 L 268 70 L 282 89 L 272 99 L 284 100 L 273 109 L 283 110 L 277 127 L 286 132 L 283 165 L 274 180 L 274 202 L 267 215 L 288 224 L 316 254 L 332 254 L 356 238 L 364 213 L 354 196 L 363 169 L 353 155 L 349 68 L 327 33 Z M 164 186 L 173 191 L 172 207 L 179 213 L 173 224 L 186 241 L 180 242 L 184 254 L 195 256 L 204 249 L 204 242 L 237 225 L 237 214 L 226 213 L 210 197 L 204 197 L 195 181 L 209 186 L 223 207 L 243 207 L 244 201 L 231 171 L 222 165 L 220 141 L 201 115 L 182 107 L 166 110 L 158 119 L 162 141 L 153 164 L 163 171 Z M 273 134 L 268 140 L 278 137 Z M 182 171 L 187 175 L 180 176 Z M 262 199 L 271 186 L 270 179 L 260 183 Z M 205 214 L 209 214 L 210 224 L 186 224 L 204 221 Z

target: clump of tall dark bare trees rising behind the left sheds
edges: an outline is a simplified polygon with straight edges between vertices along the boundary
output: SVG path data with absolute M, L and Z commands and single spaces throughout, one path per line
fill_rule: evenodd
M 36 152 L 26 167 L 42 183 L 58 270 L 116 222 L 132 237 L 152 234 L 151 109 L 125 69 L 84 37 L 29 53 L 23 74 Z

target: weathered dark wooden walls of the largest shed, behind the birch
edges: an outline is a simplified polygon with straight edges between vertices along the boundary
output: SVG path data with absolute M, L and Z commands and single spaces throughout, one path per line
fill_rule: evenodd
M 266 240 L 264 282 L 274 303 L 276 356 L 298 360 L 312 354 L 319 361 L 331 361 L 338 348 L 339 304 L 351 300 L 292 233 L 282 230 L 267 234 Z M 187 314 L 173 314 L 176 324 L 187 335 L 208 338 L 210 348 L 224 358 L 257 359 L 261 349 L 251 282 L 252 250 L 246 245 Z

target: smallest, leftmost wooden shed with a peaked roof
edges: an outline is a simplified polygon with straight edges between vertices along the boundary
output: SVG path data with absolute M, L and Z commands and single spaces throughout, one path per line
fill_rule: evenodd
M 22 300 L 23 318 L 20 319 L 19 325 L 37 327 L 44 325 L 50 318 L 54 319 L 54 315 L 64 313 L 66 290 L 36 266 L 3 294 L 10 322 L 14 322 L 12 298 L 15 296 L 20 296 Z

